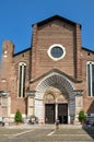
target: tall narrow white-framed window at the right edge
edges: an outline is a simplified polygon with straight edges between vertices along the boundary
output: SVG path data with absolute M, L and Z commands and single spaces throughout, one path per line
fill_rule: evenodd
M 87 94 L 94 96 L 94 62 L 87 62 Z

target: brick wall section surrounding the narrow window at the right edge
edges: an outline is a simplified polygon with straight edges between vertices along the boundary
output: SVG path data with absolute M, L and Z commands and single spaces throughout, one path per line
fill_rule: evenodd
M 94 52 L 84 50 L 82 51 L 82 79 L 83 79 L 83 107 L 85 113 L 94 113 L 94 97 L 87 96 L 87 72 L 86 63 L 87 61 L 94 61 Z

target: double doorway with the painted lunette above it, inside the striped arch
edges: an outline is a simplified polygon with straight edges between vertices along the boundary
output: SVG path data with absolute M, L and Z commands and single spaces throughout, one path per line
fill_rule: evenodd
M 58 118 L 60 123 L 68 123 L 68 95 L 55 87 L 49 86 L 44 96 L 45 122 L 54 123 Z

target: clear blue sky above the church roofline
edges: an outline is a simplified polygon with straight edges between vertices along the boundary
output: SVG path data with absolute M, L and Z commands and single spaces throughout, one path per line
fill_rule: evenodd
M 15 52 L 31 46 L 32 24 L 61 15 L 82 25 L 82 46 L 94 50 L 94 0 L 0 0 L 0 52 L 10 39 Z

